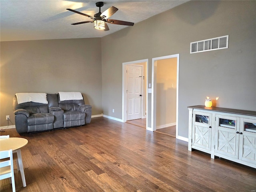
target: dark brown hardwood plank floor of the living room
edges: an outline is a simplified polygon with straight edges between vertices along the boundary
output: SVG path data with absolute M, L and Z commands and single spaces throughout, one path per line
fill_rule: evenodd
M 27 186 L 20 192 L 254 192 L 256 169 L 209 154 L 188 143 L 128 123 L 93 118 L 77 128 L 25 134 L 21 149 Z M 0 191 L 12 190 L 8 179 Z

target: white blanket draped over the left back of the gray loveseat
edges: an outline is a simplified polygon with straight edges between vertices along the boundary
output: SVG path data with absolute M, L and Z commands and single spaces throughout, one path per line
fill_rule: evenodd
M 48 104 L 46 93 L 16 93 L 18 104 L 26 102 L 35 102 Z

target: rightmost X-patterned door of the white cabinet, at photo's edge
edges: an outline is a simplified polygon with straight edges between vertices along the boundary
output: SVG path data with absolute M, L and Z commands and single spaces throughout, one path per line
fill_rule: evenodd
M 256 118 L 240 118 L 239 159 L 256 164 Z

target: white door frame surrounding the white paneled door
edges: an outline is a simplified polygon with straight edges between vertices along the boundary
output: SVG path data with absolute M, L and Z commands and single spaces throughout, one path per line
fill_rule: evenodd
M 148 59 L 131 61 L 131 62 L 124 62 L 123 63 L 123 78 L 122 78 L 122 122 L 126 122 L 126 117 L 127 117 L 127 115 L 126 115 L 126 110 L 127 110 L 127 105 L 126 105 L 126 103 L 127 103 L 126 66 L 127 65 L 135 65 L 135 64 L 143 63 L 143 62 L 146 62 L 146 93 L 143 92 L 143 94 L 147 94 L 147 96 L 146 96 L 146 114 L 148 114 L 148 107 L 147 107 L 148 106 L 148 78 L 147 78 L 148 77 Z M 142 86 L 144 86 L 144 85 L 142 85 Z M 142 104 L 142 106 L 143 106 L 143 104 Z M 147 127 L 148 127 L 148 121 L 146 121 L 146 128 Z

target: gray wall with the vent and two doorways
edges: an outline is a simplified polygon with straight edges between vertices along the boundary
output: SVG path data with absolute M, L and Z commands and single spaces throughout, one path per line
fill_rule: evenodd
M 103 37 L 103 114 L 122 119 L 123 62 L 148 58 L 151 83 L 152 58 L 172 54 L 180 54 L 179 136 L 188 138 L 187 106 L 206 96 L 219 96 L 218 107 L 256 110 L 255 10 L 255 1 L 190 1 Z M 190 42 L 224 35 L 228 49 L 190 54 Z

